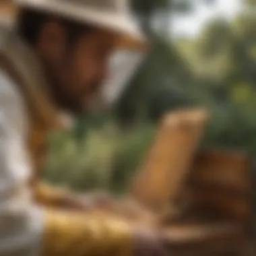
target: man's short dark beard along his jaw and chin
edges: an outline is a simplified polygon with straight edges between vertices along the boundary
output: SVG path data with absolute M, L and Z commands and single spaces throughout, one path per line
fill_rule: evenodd
M 63 64 L 54 66 L 44 63 L 45 75 L 48 79 L 48 88 L 53 103 L 60 110 L 71 113 L 76 117 L 86 115 L 102 108 L 102 84 L 97 78 L 86 84 L 75 82 L 71 67 Z

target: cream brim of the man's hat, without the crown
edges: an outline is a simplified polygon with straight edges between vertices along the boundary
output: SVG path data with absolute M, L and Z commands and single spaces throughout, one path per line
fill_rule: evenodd
M 15 0 L 18 7 L 28 7 L 48 13 L 57 14 L 84 24 L 117 32 L 120 35 L 119 47 L 145 51 L 147 49 L 146 38 L 139 30 L 137 24 L 127 13 L 114 13 L 94 8 L 82 8 L 78 4 L 61 1 L 46 0 Z

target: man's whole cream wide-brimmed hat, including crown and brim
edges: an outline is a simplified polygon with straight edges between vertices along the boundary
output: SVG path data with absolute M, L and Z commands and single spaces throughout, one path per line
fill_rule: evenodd
M 120 46 L 146 49 L 146 39 L 129 11 L 127 0 L 14 0 L 28 7 L 92 24 L 120 34 Z

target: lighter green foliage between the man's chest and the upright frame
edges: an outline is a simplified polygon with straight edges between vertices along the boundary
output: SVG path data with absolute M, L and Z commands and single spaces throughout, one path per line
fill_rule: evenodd
M 154 126 L 125 133 L 108 121 L 100 129 L 88 129 L 79 141 L 73 134 L 49 137 L 51 152 L 45 179 L 78 191 L 107 189 L 120 193 L 150 147 Z

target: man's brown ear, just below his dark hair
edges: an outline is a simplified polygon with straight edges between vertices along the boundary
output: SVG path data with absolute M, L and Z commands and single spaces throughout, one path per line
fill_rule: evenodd
M 57 21 L 46 22 L 38 38 L 38 50 L 49 61 L 59 61 L 66 48 L 66 34 Z

